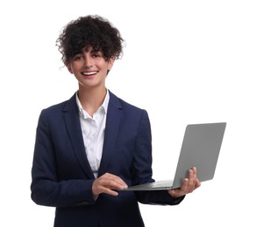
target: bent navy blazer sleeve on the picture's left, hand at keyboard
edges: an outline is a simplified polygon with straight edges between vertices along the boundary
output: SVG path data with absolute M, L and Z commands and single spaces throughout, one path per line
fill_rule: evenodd
M 59 179 L 53 131 L 48 115 L 50 114 L 43 110 L 39 116 L 32 162 L 32 200 L 40 205 L 54 207 L 95 203 L 92 194 L 94 179 Z

